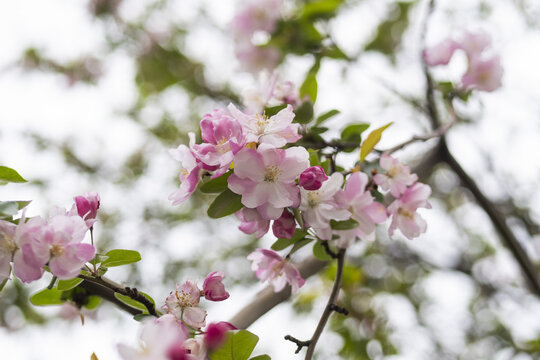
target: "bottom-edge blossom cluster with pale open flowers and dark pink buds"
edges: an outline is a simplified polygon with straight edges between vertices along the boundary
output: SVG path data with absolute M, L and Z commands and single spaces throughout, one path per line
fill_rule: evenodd
M 222 283 L 222 271 L 210 273 L 200 290 L 193 281 L 176 285 L 165 301 L 166 314 L 146 320 L 140 334 L 141 349 L 118 345 L 122 359 L 147 360 L 207 360 L 209 353 L 221 347 L 229 330 L 236 327 L 221 321 L 206 325 L 206 311 L 199 308 L 204 296 L 210 301 L 229 297 Z

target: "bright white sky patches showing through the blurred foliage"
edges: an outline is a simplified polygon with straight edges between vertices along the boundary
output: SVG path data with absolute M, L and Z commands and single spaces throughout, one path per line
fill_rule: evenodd
M 125 0 L 122 14 L 136 18 L 148 2 Z M 384 16 L 385 4 L 388 2 L 365 0 L 340 15 L 332 23 L 338 44 L 346 52 L 355 53 L 372 36 L 373 27 Z M 197 7 L 207 6 L 211 18 L 225 28 L 233 16 L 234 1 L 178 0 L 171 3 L 170 9 L 163 16 L 169 21 L 196 24 L 187 40 L 188 53 L 194 58 L 207 61 L 210 76 L 214 76 L 218 82 L 232 80 L 237 89 L 254 84 L 249 75 L 239 74 L 233 58 L 232 43 L 226 35 L 194 19 Z M 462 29 L 483 29 L 492 34 L 494 47 L 502 55 L 505 68 L 504 88 L 492 94 L 482 94 L 472 110 L 466 110 L 475 121 L 453 129 L 449 139 L 451 149 L 490 195 L 497 196 L 501 192 L 501 184 L 497 183 L 493 173 L 488 172 L 494 170 L 499 178 L 508 179 L 508 184 L 504 185 L 524 204 L 535 204 L 534 211 L 537 219 L 540 219 L 540 30 L 527 27 L 510 1 L 485 1 L 496 6 L 487 18 L 482 19 L 476 11 L 478 1 L 447 0 L 438 3 L 440 7 L 430 23 L 428 43 L 435 43 L 450 34 L 455 35 Z M 103 54 L 104 29 L 99 22 L 91 22 L 85 6 L 86 1 L 83 0 L 0 2 L 0 161 L 16 168 L 28 179 L 54 179 L 46 193 L 38 193 L 36 188 L 21 185 L 0 188 L 2 199 L 34 199 L 29 208 L 30 215 L 44 214 L 52 204 L 69 206 L 75 194 L 89 190 L 98 191 L 104 203 L 125 203 L 126 208 L 130 209 L 141 209 L 142 204 L 149 201 L 166 203 L 167 195 L 173 191 L 167 180 L 174 176 L 177 165 L 155 145 L 150 145 L 151 151 L 156 154 L 148 180 L 136 189 L 130 189 L 132 193 L 127 193 L 126 190 L 119 191 L 114 184 L 92 187 L 88 179 L 81 179 L 77 174 L 66 171 L 58 156 L 36 153 L 21 138 L 21 133 L 28 130 L 55 139 L 76 135 L 76 150 L 83 154 L 83 158 L 93 159 L 107 154 L 106 166 L 111 169 L 145 141 L 146 135 L 142 129 L 121 115 L 136 98 L 132 80 L 134 63 L 127 54 L 118 52 L 107 60 L 104 77 L 96 87 L 67 87 L 65 80 L 59 76 L 27 74 L 12 67 L 22 51 L 30 46 L 43 49 L 47 56 L 62 61 L 76 59 L 81 54 Z M 539 12 L 540 6 L 535 6 L 530 13 Z M 418 22 L 423 14 L 414 12 L 412 20 Z M 158 29 L 163 26 L 160 19 L 155 19 L 152 24 Z M 388 135 L 383 139 L 381 148 L 406 140 L 411 134 L 422 130 L 415 125 L 418 115 L 410 109 L 386 106 L 388 103 L 395 105 L 398 100 L 377 82 L 377 78 L 383 78 L 404 93 L 421 93 L 423 80 L 417 62 L 418 36 L 418 26 L 413 26 L 406 34 L 406 46 L 398 63 L 398 71 L 389 71 L 387 61 L 377 54 L 365 55 L 358 66 L 350 70 L 346 79 L 341 76 L 341 64 L 325 63 L 319 76 L 317 108 L 320 111 L 331 108 L 342 111 L 343 115 L 332 123 L 336 130 L 345 121 L 368 121 L 375 125 L 395 121 L 395 125 L 387 131 Z M 307 58 L 291 59 L 284 67 L 283 78 L 299 84 L 309 65 Z M 453 69 L 437 72 L 436 77 L 452 77 L 456 71 L 459 71 L 459 64 Z M 146 110 L 148 117 L 145 121 L 148 124 L 155 121 L 159 117 L 160 107 L 185 113 L 185 101 L 185 97 L 171 90 L 157 100 L 154 107 Z M 488 169 L 484 156 L 492 159 L 493 169 Z M 511 175 L 511 180 L 507 175 Z M 156 189 L 161 190 L 158 193 Z M 435 202 L 434 208 L 434 211 L 423 213 L 430 228 L 425 236 L 412 243 L 412 247 L 434 263 L 449 264 L 452 256 L 455 256 L 455 249 L 464 243 L 459 239 L 460 234 L 451 227 L 450 221 L 443 216 L 441 206 Z M 466 210 L 469 219 L 472 219 L 471 228 L 492 232 L 483 214 L 475 208 L 463 211 Z M 224 226 L 234 229 L 235 225 L 226 222 Z M 134 227 L 136 224 L 124 224 L 120 228 L 119 238 L 128 238 L 122 235 L 130 234 Z M 178 252 L 174 240 L 180 234 L 186 238 L 186 242 L 191 239 L 197 243 L 194 228 L 185 227 L 171 231 L 164 240 L 163 246 L 167 251 Z M 495 235 L 493 239 L 496 239 Z M 265 241 L 266 245 L 271 243 L 271 239 Z M 538 250 L 540 239 L 534 241 Z M 127 240 L 124 242 L 125 246 L 129 246 Z M 493 242 L 496 244 L 497 241 Z M 147 274 L 159 274 L 156 270 L 159 263 L 156 264 L 154 256 L 159 259 L 160 255 L 153 250 L 147 250 L 146 254 L 152 256 L 145 258 L 143 254 L 141 266 L 148 271 Z M 486 266 L 499 275 L 506 274 L 506 279 L 511 282 L 519 276 L 519 272 L 508 257 L 507 252 L 501 251 Z M 248 271 L 247 262 L 245 266 L 245 271 Z M 119 271 L 116 275 L 121 279 L 125 274 Z M 201 274 L 201 278 L 203 276 Z M 38 289 L 46 283 L 45 280 L 33 284 L 33 287 Z M 310 286 L 317 284 L 314 282 Z M 438 311 L 430 312 L 434 315 L 428 317 L 428 320 L 433 323 L 431 325 L 436 331 L 446 331 L 449 334 L 449 348 L 454 345 L 459 347 L 463 339 L 454 336 L 449 329 L 460 327 L 460 322 L 465 319 L 466 309 L 463 307 L 474 295 L 472 285 L 460 276 L 441 272 L 431 276 L 423 286 L 433 300 L 433 307 L 438 307 Z M 155 290 L 164 295 L 167 291 L 161 287 Z M 220 304 L 210 310 L 210 319 L 229 318 L 236 311 L 236 305 L 247 302 L 255 290 L 235 289 L 229 305 Z M 159 299 L 158 296 L 155 298 Z M 418 341 L 410 341 L 411 334 L 421 335 L 425 331 L 418 326 L 413 309 L 408 308 L 409 305 L 403 299 L 396 297 L 381 297 L 378 300 L 378 305 L 388 311 L 391 322 L 395 323 L 396 341 L 403 343 L 400 347 L 403 356 L 393 359 L 428 359 L 425 354 L 431 345 L 422 341 L 421 336 L 417 337 L 420 339 Z M 540 333 L 538 301 L 531 301 L 522 307 L 512 301 L 503 305 L 500 316 L 515 328 L 517 336 L 530 338 Z M 55 311 L 50 309 L 51 313 Z M 16 324 L 20 314 L 11 315 Z M 47 327 L 26 326 L 13 333 L 0 329 L 0 355 L 21 360 L 71 360 L 89 358 L 92 351 L 95 351 L 100 359 L 107 360 L 118 358 L 116 343 L 135 344 L 138 325 L 131 319 L 118 316 L 114 311 L 101 312 L 99 318 L 99 322 L 88 320 L 84 327 L 77 321 L 70 323 L 58 320 Z M 274 359 L 293 358 L 291 354 L 294 346 L 283 341 L 283 335 L 294 334 L 299 338 L 308 338 L 316 319 L 302 317 L 297 321 L 283 321 L 291 318 L 294 318 L 294 314 L 289 307 L 280 306 L 253 326 L 251 330 L 262 335 L 261 351 L 268 352 Z M 325 334 L 321 349 L 335 347 L 335 341 L 338 341 L 336 336 Z M 507 358 L 505 354 L 500 356 L 500 359 Z

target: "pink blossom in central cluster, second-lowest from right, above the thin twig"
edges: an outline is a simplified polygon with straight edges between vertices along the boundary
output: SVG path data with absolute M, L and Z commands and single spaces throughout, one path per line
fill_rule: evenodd
M 358 222 L 358 227 L 354 230 L 354 235 L 367 240 L 373 240 L 375 237 L 375 224 L 380 224 L 388 218 L 385 207 L 373 201 L 373 196 L 366 190 L 366 185 L 369 179 L 368 176 L 361 172 L 353 173 L 347 183 L 345 189 L 340 190 L 336 194 L 338 203 L 347 208 L 351 213 L 351 218 Z M 353 233 L 344 232 L 340 235 L 345 238 Z

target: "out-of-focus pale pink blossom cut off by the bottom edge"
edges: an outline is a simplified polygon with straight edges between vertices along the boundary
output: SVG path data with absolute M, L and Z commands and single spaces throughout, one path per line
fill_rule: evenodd
M 118 352 L 123 360 L 192 360 L 195 358 L 177 356 L 188 335 L 181 322 L 173 315 L 165 314 L 144 322 L 139 337 L 141 349 L 119 344 Z M 183 353 L 188 354 L 187 349 L 184 348 Z

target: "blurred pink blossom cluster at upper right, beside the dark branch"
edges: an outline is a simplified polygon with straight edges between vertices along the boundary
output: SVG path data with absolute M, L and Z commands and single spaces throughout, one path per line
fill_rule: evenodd
M 465 32 L 458 40 L 447 38 L 425 49 L 423 57 L 429 66 L 448 65 L 456 50 L 463 50 L 468 68 L 461 78 L 461 87 L 491 92 L 501 87 L 503 68 L 499 56 L 489 51 L 490 46 L 489 35 Z

